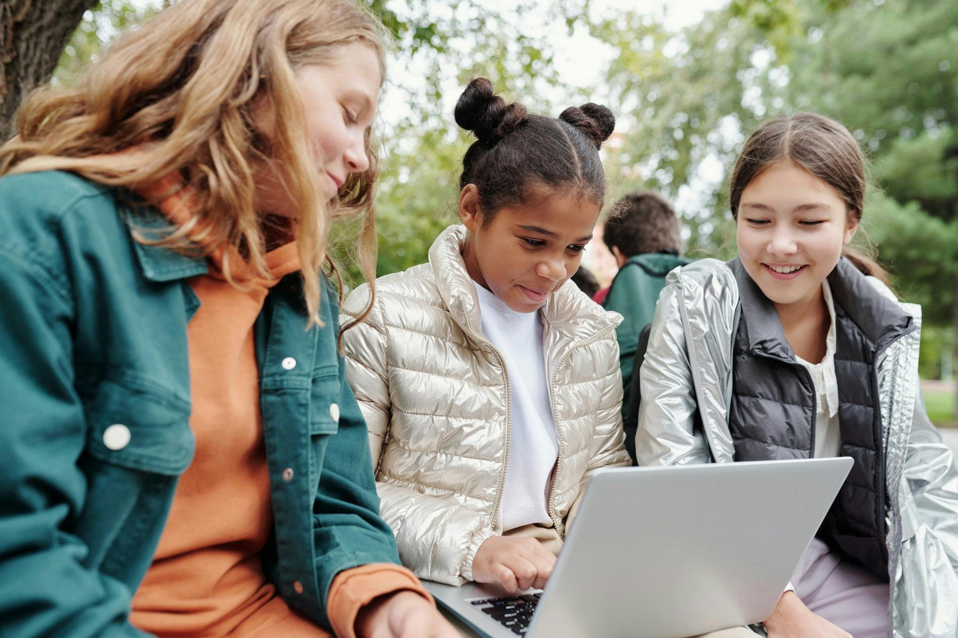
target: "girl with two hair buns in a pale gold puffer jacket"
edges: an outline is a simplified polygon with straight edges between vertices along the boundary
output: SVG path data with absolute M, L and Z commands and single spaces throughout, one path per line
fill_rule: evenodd
M 627 466 L 615 327 L 569 277 L 605 192 L 604 106 L 532 115 L 469 82 L 459 217 L 429 262 L 376 280 L 346 334 L 382 517 L 441 583 L 541 587 L 589 475 Z M 357 288 L 343 320 L 358 319 Z

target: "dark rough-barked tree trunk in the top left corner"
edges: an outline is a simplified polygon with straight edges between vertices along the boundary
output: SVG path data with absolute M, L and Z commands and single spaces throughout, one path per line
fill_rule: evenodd
M 0 0 L 0 142 L 34 87 L 48 81 L 83 12 L 98 0 Z

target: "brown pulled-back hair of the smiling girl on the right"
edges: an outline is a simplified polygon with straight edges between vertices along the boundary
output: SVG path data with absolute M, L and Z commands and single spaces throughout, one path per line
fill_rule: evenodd
M 749 136 L 732 171 L 729 204 L 732 216 L 739 214 L 741 192 L 765 168 L 792 162 L 833 187 L 845 202 L 848 214 L 861 222 L 865 206 L 865 158 L 855 138 L 840 122 L 815 113 L 764 121 Z M 865 275 L 888 284 L 888 275 L 869 255 L 845 246 L 842 256 Z

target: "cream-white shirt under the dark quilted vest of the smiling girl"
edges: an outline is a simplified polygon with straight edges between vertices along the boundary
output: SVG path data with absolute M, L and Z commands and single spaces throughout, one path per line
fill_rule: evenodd
M 809 363 L 795 355 L 811 375 L 815 386 L 815 458 L 837 456 L 841 451 L 841 429 L 838 425 L 838 382 L 835 379 L 835 306 L 828 279 L 822 281 L 822 294 L 829 307 L 829 334 L 825 339 L 825 358 Z

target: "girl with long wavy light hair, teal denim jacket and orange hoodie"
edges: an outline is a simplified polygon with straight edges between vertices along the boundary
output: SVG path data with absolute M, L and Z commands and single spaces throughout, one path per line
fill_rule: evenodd
M 458 635 L 378 516 L 321 269 L 358 214 L 374 272 L 382 80 L 350 0 L 182 0 L 24 104 L 0 148 L 0 634 Z

